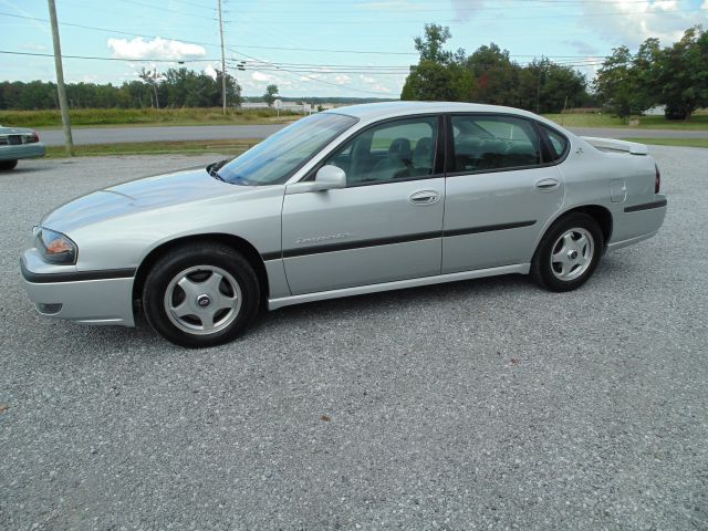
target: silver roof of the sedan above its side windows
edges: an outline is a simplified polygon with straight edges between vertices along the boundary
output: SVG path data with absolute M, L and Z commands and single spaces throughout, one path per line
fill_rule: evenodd
M 361 105 L 350 105 L 336 107 L 326 113 L 345 114 L 353 116 L 360 121 L 367 123 L 385 118 L 394 118 L 397 116 L 407 116 L 412 114 L 427 113 L 496 113 L 496 114 L 513 114 L 527 118 L 533 118 L 552 126 L 555 129 L 565 131 L 558 124 L 539 116 L 538 114 L 523 111 L 521 108 L 504 107 L 501 105 L 486 105 L 481 103 L 461 103 L 461 102 L 382 102 L 382 103 L 364 103 Z

